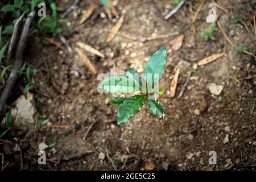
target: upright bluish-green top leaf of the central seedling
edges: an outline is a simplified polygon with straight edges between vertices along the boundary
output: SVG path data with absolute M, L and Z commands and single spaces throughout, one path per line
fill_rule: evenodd
M 166 68 L 166 57 L 166 47 L 163 47 L 159 49 L 159 51 L 156 51 L 147 62 L 144 77 L 146 78 L 148 86 L 154 88 L 155 84 L 158 84 L 159 80 L 162 78 L 164 69 Z

